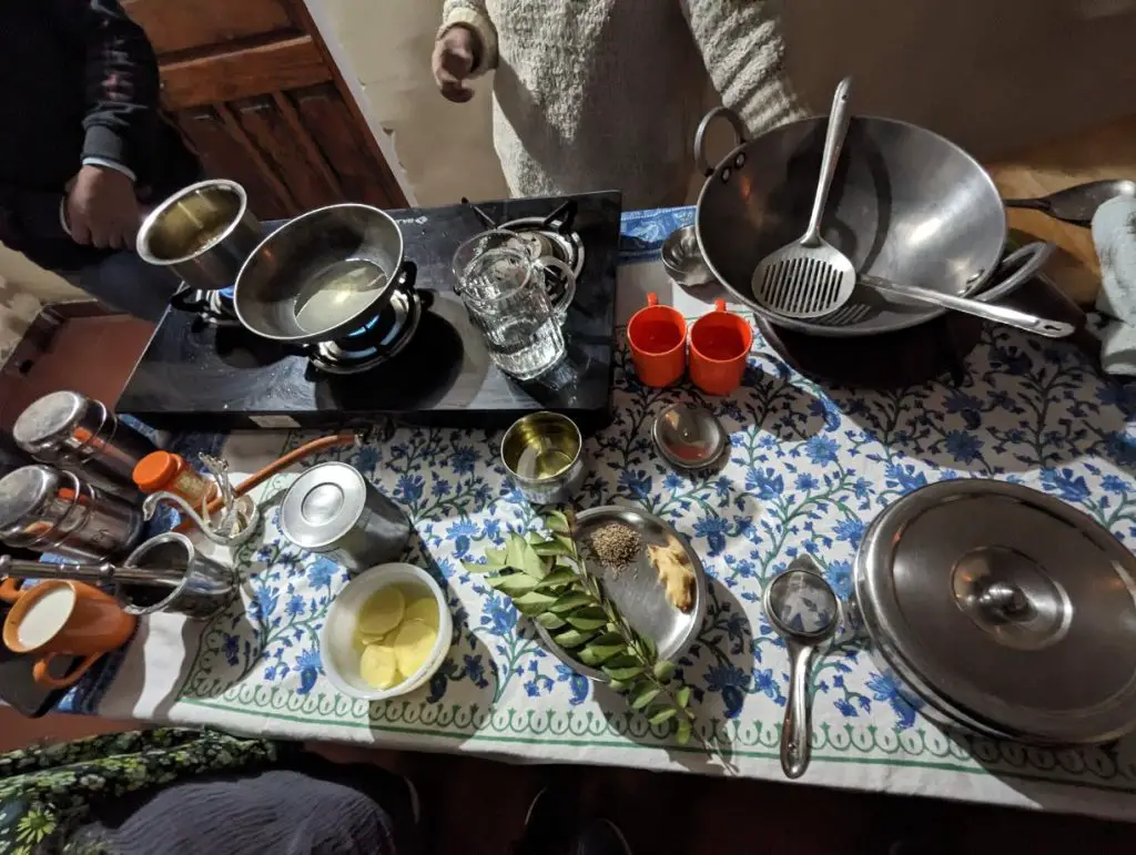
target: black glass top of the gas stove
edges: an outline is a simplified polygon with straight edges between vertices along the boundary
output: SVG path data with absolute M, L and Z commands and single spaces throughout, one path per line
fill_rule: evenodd
M 565 322 L 568 357 L 548 375 L 520 384 L 490 361 L 453 293 L 450 260 L 462 241 L 490 227 L 487 219 L 540 223 L 568 199 L 576 203 L 571 227 L 583 248 Z M 208 311 L 173 307 L 117 409 L 157 428 L 183 430 L 342 428 L 386 416 L 407 424 L 498 428 L 546 409 L 595 430 L 611 419 L 620 209 L 620 194 L 609 192 L 389 211 L 402 229 L 406 258 L 417 265 L 420 295 L 417 327 L 394 355 L 371 359 L 375 347 L 386 346 L 385 340 L 370 341 L 375 336 L 365 336 L 366 346 L 339 342 L 304 351 L 218 324 Z M 569 234 L 561 242 L 574 240 Z M 379 319 L 377 337 L 394 322 Z M 378 364 L 341 372 L 357 352 L 359 364 Z

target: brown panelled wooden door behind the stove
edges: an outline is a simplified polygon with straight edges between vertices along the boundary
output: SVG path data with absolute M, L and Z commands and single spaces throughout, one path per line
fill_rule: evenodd
M 261 219 L 335 202 L 406 204 L 302 0 L 123 0 L 154 51 L 161 103 L 206 173 Z

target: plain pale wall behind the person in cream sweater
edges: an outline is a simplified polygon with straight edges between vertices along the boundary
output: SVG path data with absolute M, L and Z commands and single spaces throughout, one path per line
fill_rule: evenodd
M 306 1 L 364 111 L 393 135 L 419 203 L 504 194 L 488 99 L 450 104 L 431 78 L 441 0 Z M 790 68 L 818 110 L 851 73 L 858 111 L 926 125 L 978 156 L 1136 112 L 1136 0 L 783 6 Z

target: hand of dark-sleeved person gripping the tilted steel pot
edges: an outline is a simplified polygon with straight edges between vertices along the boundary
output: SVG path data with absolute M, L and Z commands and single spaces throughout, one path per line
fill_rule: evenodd
M 117 169 L 84 166 L 67 193 L 67 227 L 76 243 L 134 248 L 142 211 L 134 183 Z

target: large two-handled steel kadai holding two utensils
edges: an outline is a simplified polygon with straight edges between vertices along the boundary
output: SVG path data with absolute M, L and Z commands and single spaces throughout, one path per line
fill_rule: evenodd
M 719 118 L 734 127 L 737 145 L 711 167 L 707 131 Z M 826 125 L 824 117 L 803 119 L 747 140 L 742 120 L 727 108 L 707 114 L 695 137 L 695 159 L 708 177 L 694 223 L 710 269 L 770 324 L 812 335 L 875 335 L 943 315 L 942 308 L 863 295 L 860 288 L 843 309 L 819 320 L 782 318 L 754 299 L 751 280 L 759 262 L 800 235 L 809 220 Z M 892 119 L 852 119 L 825 210 L 822 237 L 859 274 L 984 301 L 1030 278 L 1050 251 L 1044 243 L 1024 248 L 1028 261 L 986 287 L 1006 240 L 997 188 L 954 143 Z

